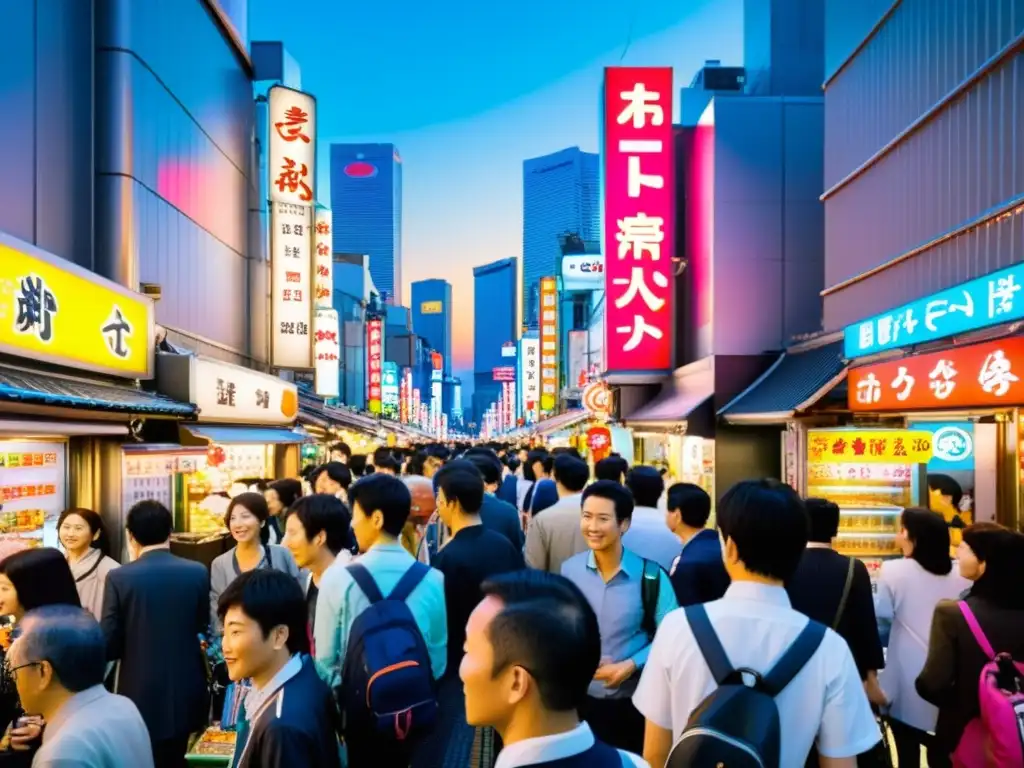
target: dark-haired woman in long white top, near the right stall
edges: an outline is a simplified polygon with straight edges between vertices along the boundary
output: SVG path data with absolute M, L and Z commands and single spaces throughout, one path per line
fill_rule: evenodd
M 896 543 L 900 560 L 883 563 L 874 609 L 892 622 L 886 668 L 879 682 L 890 702 L 890 718 L 900 765 L 916 766 L 921 748 L 931 746 L 939 711 L 914 688 L 925 667 L 932 615 L 940 600 L 955 600 L 970 586 L 949 557 L 949 528 L 937 512 L 903 511 Z

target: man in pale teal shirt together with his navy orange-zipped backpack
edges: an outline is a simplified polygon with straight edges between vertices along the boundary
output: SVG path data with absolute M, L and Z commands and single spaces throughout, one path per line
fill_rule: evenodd
M 412 507 L 397 477 L 374 473 L 348 492 L 362 555 L 321 579 L 316 660 L 342 710 L 349 768 L 410 763 L 437 717 L 447 652 L 444 578 L 398 541 Z

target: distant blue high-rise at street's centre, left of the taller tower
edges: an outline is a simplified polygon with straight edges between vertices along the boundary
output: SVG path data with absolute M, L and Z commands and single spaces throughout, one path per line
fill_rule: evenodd
M 558 241 L 555 241 L 558 248 Z M 516 333 L 516 259 L 501 259 L 473 267 L 473 414 L 479 419 L 498 400 L 502 385 L 494 369 L 508 365 L 502 345 Z

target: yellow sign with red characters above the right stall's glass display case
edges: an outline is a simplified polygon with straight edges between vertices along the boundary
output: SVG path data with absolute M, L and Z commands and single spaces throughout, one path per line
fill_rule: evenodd
M 916 429 L 823 429 L 807 433 L 811 464 L 927 464 L 932 433 Z

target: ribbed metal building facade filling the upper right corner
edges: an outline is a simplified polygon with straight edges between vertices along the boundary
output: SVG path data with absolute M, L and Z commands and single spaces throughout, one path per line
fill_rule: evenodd
M 826 3 L 825 330 L 1024 259 L 1024 13 L 939 5 Z

